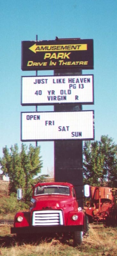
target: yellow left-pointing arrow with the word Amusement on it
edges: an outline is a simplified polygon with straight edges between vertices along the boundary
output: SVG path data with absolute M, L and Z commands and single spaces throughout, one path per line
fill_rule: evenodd
M 87 44 L 52 44 L 37 45 L 33 44 L 29 49 L 36 52 L 52 52 L 52 51 L 86 51 Z

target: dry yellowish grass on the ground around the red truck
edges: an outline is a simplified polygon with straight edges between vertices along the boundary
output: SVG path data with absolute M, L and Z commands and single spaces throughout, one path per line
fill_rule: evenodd
M 117 256 L 117 228 L 90 224 L 89 235 L 83 237 L 82 245 L 73 247 L 72 239 L 63 241 L 59 237 L 18 242 L 10 234 L 10 225 L 0 225 L 0 248 L 3 256 Z

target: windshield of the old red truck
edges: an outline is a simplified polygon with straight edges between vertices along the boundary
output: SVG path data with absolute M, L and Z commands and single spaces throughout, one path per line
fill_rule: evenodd
M 70 195 L 69 187 L 67 186 L 38 186 L 35 188 L 34 196 L 39 195 L 50 195 L 50 194 L 59 194 L 59 195 Z

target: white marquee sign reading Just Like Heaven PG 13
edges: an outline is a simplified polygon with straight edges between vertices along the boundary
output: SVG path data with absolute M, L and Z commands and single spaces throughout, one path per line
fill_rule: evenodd
M 93 75 L 22 76 L 21 105 L 93 104 Z

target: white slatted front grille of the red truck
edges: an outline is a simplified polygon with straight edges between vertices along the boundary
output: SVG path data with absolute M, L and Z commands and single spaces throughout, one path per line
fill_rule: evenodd
M 63 225 L 62 211 L 47 210 L 33 212 L 33 226 Z

